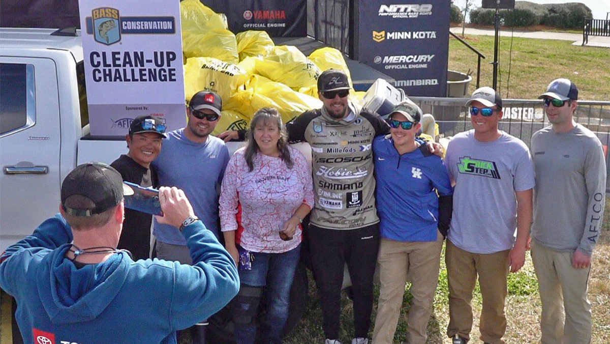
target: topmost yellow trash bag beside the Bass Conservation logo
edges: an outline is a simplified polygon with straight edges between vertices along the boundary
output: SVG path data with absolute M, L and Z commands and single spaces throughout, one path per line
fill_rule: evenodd
M 204 6 L 199 0 L 180 3 L 182 51 L 188 57 L 215 57 L 237 64 L 237 40 L 228 30 L 226 18 Z

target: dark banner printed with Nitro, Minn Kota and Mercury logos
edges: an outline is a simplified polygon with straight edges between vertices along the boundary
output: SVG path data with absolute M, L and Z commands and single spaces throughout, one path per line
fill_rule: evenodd
M 361 0 L 358 59 L 407 95 L 447 96 L 447 0 Z

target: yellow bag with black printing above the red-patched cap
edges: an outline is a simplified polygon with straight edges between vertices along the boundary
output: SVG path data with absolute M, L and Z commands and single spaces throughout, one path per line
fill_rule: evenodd
M 201 90 L 217 93 L 227 101 L 248 79 L 245 70 L 212 57 L 190 57 L 184 65 L 184 95 L 190 100 Z

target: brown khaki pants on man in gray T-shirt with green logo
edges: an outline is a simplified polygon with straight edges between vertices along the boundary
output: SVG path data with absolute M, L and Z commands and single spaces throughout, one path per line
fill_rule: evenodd
M 476 276 L 483 296 L 483 310 L 479 330 L 481 340 L 491 344 L 504 344 L 506 332 L 504 299 L 508 294 L 508 254 L 510 250 L 493 254 L 475 254 L 464 251 L 447 240 L 445 263 L 449 282 L 449 326 L 447 335 L 459 334 L 470 339 L 472 330 L 472 293 Z

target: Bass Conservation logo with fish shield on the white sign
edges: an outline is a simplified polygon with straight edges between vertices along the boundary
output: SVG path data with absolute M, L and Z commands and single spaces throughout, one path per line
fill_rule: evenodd
M 117 9 L 100 7 L 85 18 L 87 34 L 95 42 L 113 45 L 121 42 L 124 34 L 175 34 L 176 19 L 173 16 L 120 16 Z

